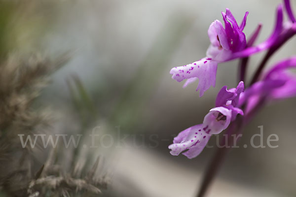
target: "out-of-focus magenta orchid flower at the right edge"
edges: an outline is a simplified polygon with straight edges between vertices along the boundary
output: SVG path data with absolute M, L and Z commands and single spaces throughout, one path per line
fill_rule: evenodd
M 252 111 L 261 99 L 272 101 L 296 96 L 296 75 L 289 72 L 289 68 L 296 68 L 296 56 L 286 59 L 272 66 L 262 77 L 240 95 L 239 105 L 247 103 L 245 112 Z

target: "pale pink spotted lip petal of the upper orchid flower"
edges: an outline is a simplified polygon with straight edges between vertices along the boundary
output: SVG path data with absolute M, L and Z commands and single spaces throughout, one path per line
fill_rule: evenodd
M 215 87 L 217 66 L 218 62 L 203 58 L 189 65 L 174 67 L 171 69 L 170 74 L 178 82 L 184 79 L 198 78 L 199 82 L 196 91 L 199 90 L 199 96 L 201 97 L 211 86 Z

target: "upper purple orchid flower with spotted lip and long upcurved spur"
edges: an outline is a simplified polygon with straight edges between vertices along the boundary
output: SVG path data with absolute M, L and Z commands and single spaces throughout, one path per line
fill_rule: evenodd
M 172 68 L 170 71 L 170 74 L 173 75 L 172 78 L 178 82 L 187 79 L 183 87 L 198 78 L 199 83 L 196 91 L 199 90 L 199 96 L 202 97 L 211 86 L 215 87 L 218 63 L 248 57 L 274 44 L 283 27 L 282 5 L 277 9 L 274 32 L 266 41 L 257 46 L 247 47 L 246 45 L 246 36 L 243 30 L 248 14 L 249 12 L 245 13 L 240 26 L 238 26 L 230 10 L 226 8 L 226 13 L 222 12 L 225 28 L 219 20 L 214 21 L 209 27 L 208 35 L 211 44 L 206 53 L 207 57 L 189 65 Z M 255 34 L 258 35 L 258 33 Z

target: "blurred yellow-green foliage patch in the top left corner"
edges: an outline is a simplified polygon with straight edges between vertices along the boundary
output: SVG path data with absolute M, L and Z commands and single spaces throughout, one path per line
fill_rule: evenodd
M 0 58 L 8 53 L 38 51 L 57 17 L 56 0 L 0 1 Z

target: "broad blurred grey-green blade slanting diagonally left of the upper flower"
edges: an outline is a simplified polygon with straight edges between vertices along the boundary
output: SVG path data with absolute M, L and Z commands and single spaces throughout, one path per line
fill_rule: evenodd
M 140 64 L 134 78 L 129 82 L 111 114 L 111 122 L 127 131 L 135 128 L 142 121 L 145 105 L 148 103 L 160 77 L 166 71 L 169 61 L 179 46 L 185 33 L 193 23 L 193 18 L 174 13 L 165 23 L 146 58 Z M 134 128 L 131 130 L 131 128 Z

